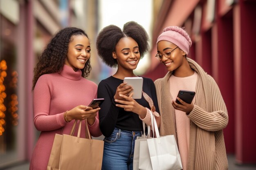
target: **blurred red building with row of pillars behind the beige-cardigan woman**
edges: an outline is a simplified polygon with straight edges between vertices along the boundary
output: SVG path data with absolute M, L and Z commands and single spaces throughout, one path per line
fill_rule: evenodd
M 237 163 L 256 163 L 256 0 L 163 0 L 154 12 L 151 66 L 144 76 L 164 77 L 155 42 L 166 26 L 184 26 L 193 42 L 188 57 L 214 77 L 227 105 L 227 153 Z

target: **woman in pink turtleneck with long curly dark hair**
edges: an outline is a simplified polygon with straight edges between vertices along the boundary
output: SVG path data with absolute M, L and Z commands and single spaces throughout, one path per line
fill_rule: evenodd
M 34 124 L 41 131 L 29 170 L 46 170 L 55 134 L 69 134 L 74 119 L 86 119 L 92 136 L 101 135 L 98 110 L 88 104 L 97 98 L 90 73 L 90 41 L 78 28 L 64 28 L 52 38 L 34 69 Z M 81 137 L 85 137 L 83 121 Z M 75 130 L 77 133 L 77 129 Z

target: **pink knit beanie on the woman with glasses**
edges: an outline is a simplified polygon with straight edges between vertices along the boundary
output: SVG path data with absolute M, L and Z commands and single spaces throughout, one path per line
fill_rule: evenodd
M 157 43 L 161 40 L 166 40 L 177 45 L 186 54 L 189 53 L 189 47 L 192 42 L 189 34 L 179 26 L 168 26 L 164 29 L 163 33 L 157 38 Z

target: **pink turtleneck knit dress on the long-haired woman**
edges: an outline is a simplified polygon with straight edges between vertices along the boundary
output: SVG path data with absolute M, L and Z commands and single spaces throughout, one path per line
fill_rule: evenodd
M 92 99 L 97 98 L 97 84 L 81 77 L 79 69 L 74 71 L 64 65 L 61 73 L 41 75 L 34 88 L 34 124 L 41 131 L 31 157 L 29 170 L 46 170 L 49 155 L 56 133 L 69 134 L 74 120 L 65 122 L 63 114 L 78 105 L 88 106 Z M 81 137 L 85 137 L 85 121 L 83 121 Z M 77 135 L 78 126 L 75 134 Z M 101 135 L 99 115 L 92 126 L 92 136 Z

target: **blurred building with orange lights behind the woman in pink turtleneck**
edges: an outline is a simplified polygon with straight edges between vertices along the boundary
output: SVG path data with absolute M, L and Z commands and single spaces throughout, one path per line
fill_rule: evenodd
M 95 18 L 94 0 L 0 0 L 0 169 L 29 161 L 38 138 L 31 91 L 38 56 L 65 26 L 85 30 L 93 46 Z

